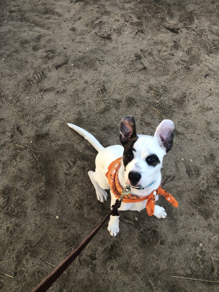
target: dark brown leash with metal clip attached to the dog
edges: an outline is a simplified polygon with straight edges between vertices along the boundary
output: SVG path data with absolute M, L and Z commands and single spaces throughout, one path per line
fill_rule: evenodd
M 98 230 L 102 227 L 102 225 L 106 222 L 106 220 L 112 216 L 119 216 L 119 210 L 118 208 L 121 206 L 121 202 L 123 199 L 123 196 L 130 192 L 130 187 L 124 188 L 124 191 L 119 198 L 117 199 L 115 204 L 112 206 L 112 210 L 109 212 L 109 214 L 100 222 L 100 224 L 88 235 L 88 237 L 74 250 L 72 253 L 67 256 L 48 276 L 41 281 L 39 285 L 37 285 L 32 292 L 45 292 L 47 289 L 60 277 L 60 275 L 67 269 L 67 267 L 73 262 L 75 258 L 83 251 L 83 249 L 88 245 L 88 243 L 91 241 L 91 239 L 97 234 Z

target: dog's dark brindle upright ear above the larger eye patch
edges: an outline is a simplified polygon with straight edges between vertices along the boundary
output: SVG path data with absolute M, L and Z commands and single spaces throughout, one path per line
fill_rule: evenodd
M 123 147 L 136 136 L 135 119 L 131 116 L 125 116 L 120 121 L 119 140 Z

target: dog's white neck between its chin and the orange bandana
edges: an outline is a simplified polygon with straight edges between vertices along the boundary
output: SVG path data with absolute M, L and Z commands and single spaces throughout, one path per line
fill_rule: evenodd
M 121 158 L 121 167 L 119 168 L 119 172 L 118 172 L 118 180 L 119 180 L 119 184 L 124 189 L 124 187 L 126 187 L 127 184 L 124 181 L 124 165 L 123 165 L 122 158 Z M 160 184 L 161 184 L 161 173 L 159 173 L 157 179 L 153 182 L 153 184 L 150 184 L 149 186 L 145 187 L 142 190 L 131 187 L 131 194 L 136 195 L 136 196 L 146 197 L 152 191 L 157 190 Z

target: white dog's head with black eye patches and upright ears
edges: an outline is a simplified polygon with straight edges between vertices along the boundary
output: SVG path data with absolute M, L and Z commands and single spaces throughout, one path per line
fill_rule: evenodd
M 146 188 L 160 176 L 163 157 L 173 145 L 174 124 L 171 120 L 163 120 L 154 137 L 136 135 L 135 120 L 131 116 L 123 117 L 120 125 L 124 181 L 135 188 Z

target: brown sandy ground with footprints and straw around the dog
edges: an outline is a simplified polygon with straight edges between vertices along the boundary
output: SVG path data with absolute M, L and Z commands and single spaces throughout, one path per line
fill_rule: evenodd
M 136 2 L 1 1 L 1 291 L 31 291 L 110 210 L 66 122 L 109 146 L 126 114 L 139 134 L 174 121 L 162 187 L 179 208 L 121 213 L 48 291 L 219 291 L 219 4 Z

